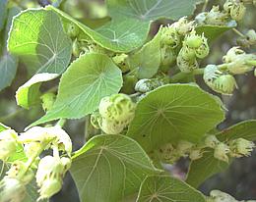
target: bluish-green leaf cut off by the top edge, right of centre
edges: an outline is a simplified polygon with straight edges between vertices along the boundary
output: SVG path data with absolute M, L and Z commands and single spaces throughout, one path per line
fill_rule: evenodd
M 178 20 L 192 15 L 202 0 L 108 0 L 109 15 L 113 19 L 133 18 L 151 22 L 161 18 Z

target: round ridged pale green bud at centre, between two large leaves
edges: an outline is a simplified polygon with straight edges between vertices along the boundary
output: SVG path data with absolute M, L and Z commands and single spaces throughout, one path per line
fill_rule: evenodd
M 113 94 L 100 100 L 98 112 L 106 120 L 130 123 L 135 114 L 135 103 L 125 94 Z

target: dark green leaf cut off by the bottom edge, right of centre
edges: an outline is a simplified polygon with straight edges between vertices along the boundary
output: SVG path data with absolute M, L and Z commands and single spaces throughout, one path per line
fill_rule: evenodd
M 170 176 L 147 177 L 140 188 L 137 202 L 205 202 L 202 193 Z

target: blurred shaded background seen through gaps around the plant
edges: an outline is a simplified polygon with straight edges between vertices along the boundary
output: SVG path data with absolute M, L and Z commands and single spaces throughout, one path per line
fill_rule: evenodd
M 50 3 L 46 0 L 40 1 L 26 1 L 16 0 L 24 9 L 27 7 L 44 6 Z M 211 0 L 208 5 L 208 9 L 212 5 L 223 3 L 223 1 Z M 62 10 L 69 13 L 74 18 L 81 22 L 95 27 L 95 21 L 92 19 L 101 19 L 100 22 L 106 22 L 107 10 L 102 0 L 69 0 L 64 1 L 61 7 Z M 200 11 L 200 6 L 198 10 Z M 256 8 L 248 7 L 245 19 L 239 24 L 237 29 L 241 32 L 246 32 L 249 28 L 256 28 Z M 166 23 L 166 21 L 160 21 L 153 25 L 152 33 L 158 30 L 160 23 Z M 226 50 L 236 45 L 235 34 L 232 30 L 224 33 L 215 43 L 212 45 L 210 56 L 202 61 L 202 67 L 205 64 L 218 64 L 222 63 L 222 57 Z M 256 52 L 255 47 L 247 49 L 248 52 Z M 34 120 L 43 115 L 43 111 L 40 107 L 34 107 L 32 110 L 27 111 L 16 105 L 15 92 L 20 85 L 25 83 L 29 79 L 25 67 L 20 64 L 17 76 L 11 87 L 6 88 L 0 92 L 0 122 L 7 126 L 12 126 L 17 131 L 21 132 L 23 129 L 31 124 Z M 236 90 L 233 96 L 223 96 L 224 105 L 228 109 L 226 112 L 226 120 L 220 126 L 224 128 L 231 126 L 238 122 L 256 119 L 256 77 L 253 74 L 247 76 L 236 76 L 239 90 Z M 48 89 L 50 86 L 55 85 L 58 80 L 48 82 L 42 87 Z M 204 83 L 201 78 L 198 82 L 204 88 Z M 209 89 L 208 89 L 209 90 Z M 80 148 L 84 144 L 85 135 L 85 120 L 69 121 L 65 125 L 65 129 L 71 135 L 74 150 Z M 235 160 L 230 168 L 223 174 L 216 175 L 209 178 L 200 189 L 209 194 L 212 189 L 220 189 L 230 193 L 238 200 L 242 199 L 256 199 L 256 152 L 250 158 L 241 158 Z M 177 165 L 176 170 L 181 174 L 187 170 L 188 163 L 182 161 Z M 100 190 L 99 190 L 100 191 Z M 79 201 L 77 191 L 72 178 L 68 175 L 65 178 L 65 183 L 62 191 L 54 196 L 51 201 Z

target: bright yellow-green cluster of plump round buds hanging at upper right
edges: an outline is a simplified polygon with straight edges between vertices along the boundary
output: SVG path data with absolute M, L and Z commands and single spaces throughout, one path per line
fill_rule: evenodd
M 207 38 L 204 34 L 198 35 L 192 30 L 183 40 L 183 46 L 177 56 L 177 66 L 181 72 L 190 73 L 198 69 L 197 58 L 203 59 L 208 54 Z

